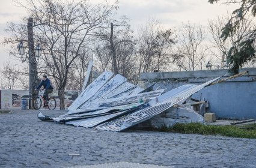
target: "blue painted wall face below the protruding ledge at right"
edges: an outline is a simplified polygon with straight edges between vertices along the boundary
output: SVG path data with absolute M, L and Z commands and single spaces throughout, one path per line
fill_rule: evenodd
M 209 100 L 210 112 L 218 118 L 256 118 L 256 82 L 222 82 L 206 87 L 192 97 Z

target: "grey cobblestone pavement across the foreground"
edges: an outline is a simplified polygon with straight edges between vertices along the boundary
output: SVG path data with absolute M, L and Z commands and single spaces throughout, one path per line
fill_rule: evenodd
M 61 110 L 41 110 L 61 115 Z M 38 110 L 0 114 L 0 167 L 75 167 L 129 162 L 171 167 L 256 167 L 256 140 L 43 122 Z

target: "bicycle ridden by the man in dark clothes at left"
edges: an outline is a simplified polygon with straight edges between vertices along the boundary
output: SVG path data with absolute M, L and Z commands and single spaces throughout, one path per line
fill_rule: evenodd
M 49 110 L 54 110 L 56 108 L 55 98 L 49 97 L 49 100 L 48 100 L 48 103 L 47 103 L 46 100 L 43 97 L 43 93 L 44 93 L 43 89 L 38 90 L 38 96 L 36 98 L 34 98 L 34 100 L 33 100 L 34 109 L 35 110 L 40 109 L 41 106 L 42 106 L 42 102 L 43 102 L 44 104 L 46 104 L 46 106 L 48 107 Z

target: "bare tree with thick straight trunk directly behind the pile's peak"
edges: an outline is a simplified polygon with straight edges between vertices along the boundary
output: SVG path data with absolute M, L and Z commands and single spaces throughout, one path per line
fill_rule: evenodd
M 131 74 L 134 71 L 132 67 L 135 65 L 133 31 L 126 21 L 127 18 L 122 17 L 111 23 L 110 31 L 102 29 L 98 34 L 99 43 L 95 51 L 101 69 L 109 68 L 115 74 L 132 78 Z

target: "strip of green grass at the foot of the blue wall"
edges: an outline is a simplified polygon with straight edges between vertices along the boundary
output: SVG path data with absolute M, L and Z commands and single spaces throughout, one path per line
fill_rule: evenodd
M 242 127 L 250 128 L 242 129 Z M 163 126 L 162 128 L 154 128 L 155 131 L 165 131 L 183 134 L 203 134 L 203 135 L 221 135 L 229 137 L 241 137 L 256 139 L 256 124 L 245 126 L 234 125 L 203 125 L 200 123 L 180 124 L 177 123 L 171 128 Z

